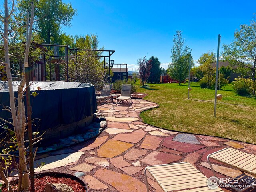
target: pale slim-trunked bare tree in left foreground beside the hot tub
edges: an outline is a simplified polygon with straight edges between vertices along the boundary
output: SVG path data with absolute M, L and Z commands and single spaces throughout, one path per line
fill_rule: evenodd
M 33 19 L 34 19 L 34 4 L 31 2 L 31 16 L 30 16 L 30 27 L 28 33 L 28 38 L 26 41 L 26 51 L 25 51 L 25 59 L 24 59 L 24 67 L 28 67 L 28 52 L 30 48 L 30 42 L 31 42 L 31 36 L 32 36 L 32 26 L 33 26 Z M 12 1 L 12 8 L 10 12 L 8 11 L 8 2 L 7 0 L 4 0 L 4 16 L 0 16 L 2 22 L 4 23 L 4 32 L 3 32 L 3 40 L 4 40 L 4 57 L 5 62 L 1 62 L 6 68 L 6 75 L 8 80 L 8 88 L 9 88 L 9 95 L 10 95 L 10 108 L 8 110 L 11 112 L 12 120 L 5 121 L 6 123 L 11 124 L 14 127 L 14 134 L 16 141 L 14 144 L 17 144 L 18 146 L 18 152 L 19 152 L 19 182 L 18 182 L 18 188 L 17 191 L 24 191 L 29 192 L 30 191 L 30 182 L 28 177 L 28 168 L 27 168 L 27 161 L 26 161 L 26 148 L 25 141 L 24 141 L 24 133 L 26 130 L 27 122 L 26 122 L 26 114 L 25 114 L 25 106 L 24 106 L 24 86 L 25 86 L 25 73 L 24 70 L 22 72 L 22 77 L 20 84 L 18 85 L 18 98 L 17 98 L 17 106 L 14 98 L 14 89 L 12 85 L 12 74 L 11 74 L 11 68 L 10 68 L 10 53 L 9 53 L 9 39 L 12 37 L 9 37 L 9 18 L 12 16 L 12 13 L 14 11 L 14 1 Z M 29 22 L 28 22 L 29 24 Z M 30 161 L 32 161 L 30 159 Z M 0 164 L 0 175 L 4 182 L 8 185 L 8 180 L 3 172 L 2 164 Z M 8 188 L 8 192 L 13 192 L 12 188 Z

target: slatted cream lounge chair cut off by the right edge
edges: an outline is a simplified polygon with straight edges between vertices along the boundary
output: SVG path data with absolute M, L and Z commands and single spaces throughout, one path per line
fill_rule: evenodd
M 254 177 L 256 176 L 256 156 L 253 154 L 248 154 L 246 152 L 242 152 L 232 148 L 224 148 L 222 150 L 209 154 L 207 156 L 207 160 L 214 176 L 216 176 L 210 159 L 236 168 L 242 172 L 251 174 Z M 252 184 L 250 184 L 248 188 L 250 188 L 251 186 Z M 239 191 L 239 189 L 236 187 L 234 187 L 234 189 Z

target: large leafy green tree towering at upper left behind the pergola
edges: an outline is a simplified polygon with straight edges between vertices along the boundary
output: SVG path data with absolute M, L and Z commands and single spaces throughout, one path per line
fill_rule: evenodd
M 29 2 L 30 0 L 19 0 L 19 9 L 27 10 Z M 39 32 L 46 44 L 60 43 L 61 26 L 71 26 L 70 22 L 76 15 L 76 9 L 62 0 L 39 0 L 35 2 L 35 6 L 36 22 L 33 30 Z

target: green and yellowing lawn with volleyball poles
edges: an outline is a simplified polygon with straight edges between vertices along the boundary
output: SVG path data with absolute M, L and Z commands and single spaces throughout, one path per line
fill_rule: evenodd
M 147 124 L 256 144 L 256 97 L 238 96 L 228 84 L 218 91 L 223 99 L 217 102 L 214 118 L 215 90 L 192 82 L 188 100 L 188 83 L 148 85 L 137 92 L 148 93 L 144 99 L 160 106 L 140 114 Z

